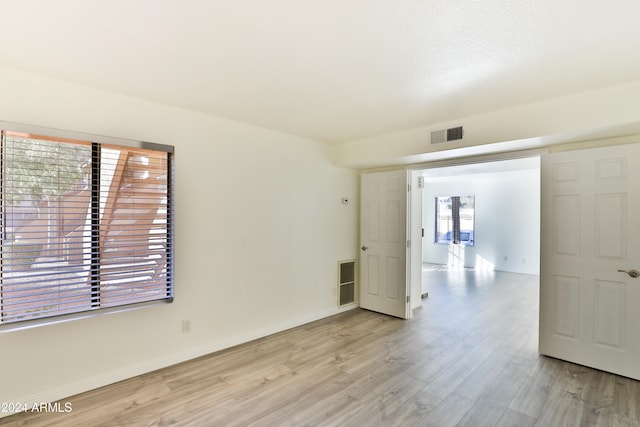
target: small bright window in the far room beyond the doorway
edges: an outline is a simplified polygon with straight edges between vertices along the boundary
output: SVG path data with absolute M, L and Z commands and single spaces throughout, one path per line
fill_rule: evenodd
M 439 196 L 435 203 L 435 243 L 473 246 L 475 196 Z

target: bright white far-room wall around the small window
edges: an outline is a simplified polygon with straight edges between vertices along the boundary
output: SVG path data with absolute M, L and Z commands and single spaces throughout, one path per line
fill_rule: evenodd
M 434 243 L 437 196 L 475 195 L 475 245 L 462 246 L 465 267 L 539 274 L 540 170 L 431 178 L 423 200 L 423 260 L 450 262 L 450 245 Z M 506 257 L 506 260 L 505 260 Z

